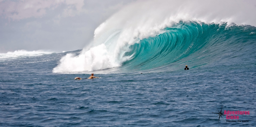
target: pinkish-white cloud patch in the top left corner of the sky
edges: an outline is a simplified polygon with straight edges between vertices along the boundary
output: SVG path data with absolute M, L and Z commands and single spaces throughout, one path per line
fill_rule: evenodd
M 61 4 L 66 5 L 62 17 L 87 12 L 83 9 L 84 0 L 19 0 L 17 2 L 0 0 L 0 15 L 13 20 L 41 18 L 46 14 L 47 9 L 55 9 Z

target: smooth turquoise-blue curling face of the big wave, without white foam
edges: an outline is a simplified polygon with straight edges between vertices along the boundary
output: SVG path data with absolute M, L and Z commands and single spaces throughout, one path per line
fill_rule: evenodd
M 253 64 L 255 33 L 255 27 L 248 25 L 181 21 L 163 34 L 131 45 L 125 56 L 133 54 L 133 59 L 124 62 L 123 68 L 163 72 L 183 69 L 185 64 L 192 68 L 237 65 L 244 60 Z

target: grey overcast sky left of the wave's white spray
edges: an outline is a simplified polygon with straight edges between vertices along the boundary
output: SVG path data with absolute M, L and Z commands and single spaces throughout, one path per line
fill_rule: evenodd
M 82 49 L 94 30 L 135 0 L 0 0 L 0 53 Z

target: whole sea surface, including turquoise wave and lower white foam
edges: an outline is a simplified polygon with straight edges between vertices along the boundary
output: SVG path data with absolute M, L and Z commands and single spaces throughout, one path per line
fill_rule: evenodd
M 256 126 L 256 27 L 163 31 L 123 46 L 117 63 L 84 50 L 0 54 L 0 126 Z M 91 73 L 101 78 L 74 80 Z M 219 120 L 217 109 L 250 111 L 236 115 L 248 122 Z

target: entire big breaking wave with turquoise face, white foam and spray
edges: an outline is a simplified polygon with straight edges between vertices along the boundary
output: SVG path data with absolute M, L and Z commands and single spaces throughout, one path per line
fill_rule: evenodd
M 195 1 L 170 1 L 168 4 L 150 1 L 127 6 L 95 30 L 90 46 L 79 55 L 67 54 L 53 72 L 113 67 L 127 72 L 171 70 L 183 64 L 196 68 L 216 62 L 236 64 L 248 56 L 248 59 L 252 58 L 255 54 L 252 51 L 255 50 L 255 27 L 235 23 L 254 25 L 251 21 L 255 21 L 255 17 L 246 17 L 236 9 L 226 14 L 225 5 L 231 1 L 221 5 L 200 2 L 199 6 Z M 212 7 L 217 5 L 218 10 Z M 242 11 L 253 10 L 247 5 L 236 4 Z

